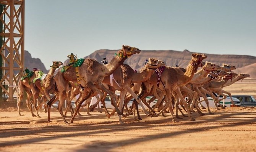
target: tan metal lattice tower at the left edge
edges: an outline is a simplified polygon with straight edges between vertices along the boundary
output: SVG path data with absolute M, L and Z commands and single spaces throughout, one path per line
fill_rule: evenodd
M 8 101 L 24 70 L 24 7 L 25 0 L 0 0 L 0 98 Z

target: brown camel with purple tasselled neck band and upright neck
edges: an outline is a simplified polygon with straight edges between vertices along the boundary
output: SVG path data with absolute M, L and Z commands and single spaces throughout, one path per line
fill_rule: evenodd
M 187 70 L 184 73 L 182 70 L 178 69 L 177 67 L 168 67 L 166 66 L 164 70 L 162 70 L 162 74 L 160 77 L 158 74 L 153 74 L 146 82 L 149 82 L 151 84 L 157 85 L 157 87 L 163 91 L 167 98 L 167 104 L 165 104 L 165 107 L 159 112 L 162 113 L 163 110 L 167 109 L 167 106 L 169 106 L 169 110 L 172 111 L 172 102 L 171 102 L 171 95 L 173 92 L 177 93 L 177 95 L 182 100 L 183 104 L 186 107 L 186 110 L 188 111 L 188 105 L 185 101 L 185 99 L 182 97 L 180 86 L 186 85 L 190 80 L 192 79 L 194 73 L 198 69 L 198 65 L 201 63 L 203 59 L 207 58 L 207 55 L 205 54 L 198 54 L 193 53 L 192 59 L 190 63 L 187 66 Z M 158 76 L 158 79 L 157 79 Z M 160 80 L 157 83 L 157 80 Z M 145 90 L 143 95 L 141 96 L 141 99 L 145 98 L 150 90 Z M 144 95 L 145 94 L 145 95 Z M 173 117 L 173 113 L 170 112 L 172 115 L 172 122 L 175 122 L 175 119 Z M 195 119 L 191 116 L 190 112 L 188 112 L 188 117 L 191 121 L 194 121 Z

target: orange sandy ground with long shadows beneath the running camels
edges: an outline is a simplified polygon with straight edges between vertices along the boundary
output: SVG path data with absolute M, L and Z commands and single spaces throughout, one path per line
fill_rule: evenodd
M 231 107 L 211 109 L 191 122 L 183 117 L 171 122 L 167 117 L 147 117 L 133 121 L 123 118 L 118 123 L 115 115 L 108 119 L 104 113 L 77 116 L 74 124 L 65 125 L 58 112 L 52 112 L 52 122 L 47 123 L 47 113 L 41 118 L 31 117 L 16 109 L 0 109 L 1 152 L 252 152 L 256 151 L 256 107 Z M 12 112 L 4 112 L 12 111 Z M 70 115 L 66 117 L 70 120 Z

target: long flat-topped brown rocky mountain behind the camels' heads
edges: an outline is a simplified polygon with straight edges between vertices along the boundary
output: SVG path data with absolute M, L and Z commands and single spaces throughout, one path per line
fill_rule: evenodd
M 118 50 L 97 50 L 94 53 L 90 54 L 89 56 L 86 56 L 84 58 L 93 58 L 97 61 L 101 61 L 103 58 L 107 58 L 109 61 L 115 56 L 115 53 Z M 144 51 L 142 50 L 139 54 L 134 54 L 130 58 L 126 59 L 125 63 L 130 65 L 133 69 L 140 69 L 144 66 L 144 62 L 148 58 L 156 58 L 159 60 L 162 60 L 166 63 L 167 66 L 175 66 L 178 65 L 180 67 L 186 67 L 191 59 L 191 54 L 194 52 L 190 52 L 188 50 L 184 51 L 174 51 L 174 50 L 152 50 L 152 51 Z M 256 68 L 256 57 L 255 56 L 248 56 L 248 55 L 229 55 L 229 54 L 206 54 L 207 58 L 204 59 L 204 61 L 213 62 L 218 65 L 222 64 L 230 64 L 237 67 L 237 69 L 241 69 L 242 73 L 246 73 L 243 71 L 246 71 L 245 68 L 249 66 L 251 69 Z M 78 57 L 79 58 L 79 57 Z M 66 60 L 64 62 L 64 65 L 67 64 L 69 60 Z M 255 63 L 255 64 L 254 64 Z M 247 67 L 246 67 L 247 68 Z M 250 73 L 249 73 L 250 72 Z M 251 77 L 253 77 L 253 74 L 256 75 L 256 72 L 253 70 L 250 70 L 247 72 L 248 74 L 251 74 Z M 255 76 L 256 78 L 256 76 Z

